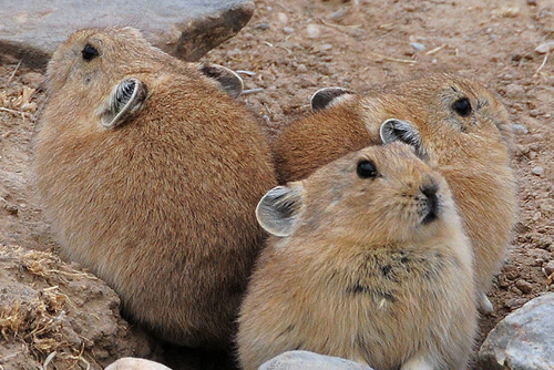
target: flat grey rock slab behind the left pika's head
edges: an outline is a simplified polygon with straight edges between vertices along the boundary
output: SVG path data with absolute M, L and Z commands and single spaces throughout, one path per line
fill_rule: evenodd
M 0 7 L 0 52 L 44 68 L 58 44 L 79 29 L 133 25 L 170 54 L 196 61 L 235 35 L 253 13 L 252 0 L 7 1 Z

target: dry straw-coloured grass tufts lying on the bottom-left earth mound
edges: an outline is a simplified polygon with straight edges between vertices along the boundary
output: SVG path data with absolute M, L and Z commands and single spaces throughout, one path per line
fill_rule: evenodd
M 0 302 L 1 338 L 23 345 L 23 352 L 43 363 L 43 369 L 54 358 L 57 366 L 62 366 L 62 369 L 89 369 L 90 362 L 83 356 L 88 339 L 81 338 L 78 345 L 68 338 L 68 331 L 64 330 L 68 325 L 65 316 L 73 305 L 60 287 L 66 284 L 64 276 L 82 275 L 90 278 L 91 275 L 70 269 L 49 253 L 0 245 L 0 261 L 10 259 L 14 261 L 13 266 L 21 266 L 20 270 L 34 280 L 31 286 L 38 295 Z M 37 288 L 44 285 L 47 287 Z

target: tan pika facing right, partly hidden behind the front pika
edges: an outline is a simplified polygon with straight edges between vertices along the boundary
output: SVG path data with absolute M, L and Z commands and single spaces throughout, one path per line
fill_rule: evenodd
M 273 144 L 281 182 L 367 145 L 401 141 L 449 182 L 475 250 L 476 286 L 485 294 L 500 269 L 516 219 L 516 181 L 510 168 L 513 134 L 500 100 L 480 83 L 435 72 L 357 95 L 318 91 L 315 113 L 293 122 Z

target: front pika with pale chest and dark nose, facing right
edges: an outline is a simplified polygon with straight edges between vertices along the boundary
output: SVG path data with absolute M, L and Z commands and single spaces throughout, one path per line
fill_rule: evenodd
M 444 178 L 406 144 L 373 146 L 275 187 L 273 236 L 239 316 L 245 370 L 309 350 L 379 370 L 465 369 L 472 249 Z

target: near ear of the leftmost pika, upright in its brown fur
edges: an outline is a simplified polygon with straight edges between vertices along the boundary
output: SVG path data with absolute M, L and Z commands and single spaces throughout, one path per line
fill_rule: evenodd
M 107 104 L 100 110 L 100 122 L 107 130 L 122 126 L 146 100 L 146 85 L 137 79 L 121 80 L 113 88 Z

